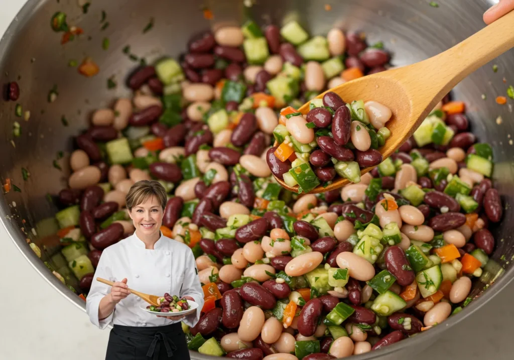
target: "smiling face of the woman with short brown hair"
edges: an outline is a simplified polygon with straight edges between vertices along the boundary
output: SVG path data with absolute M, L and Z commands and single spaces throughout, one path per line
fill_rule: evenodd
M 136 232 L 144 237 L 159 233 L 163 214 L 164 211 L 157 196 L 148 197 L 142 203 L 134 206 L 131 211 L 128 211 Z

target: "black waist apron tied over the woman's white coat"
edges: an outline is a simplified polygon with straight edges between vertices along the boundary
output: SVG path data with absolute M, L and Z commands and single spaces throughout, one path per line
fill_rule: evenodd
M 155 327 L 115 325 L 105 360 L 190 360 L 180 322 Z

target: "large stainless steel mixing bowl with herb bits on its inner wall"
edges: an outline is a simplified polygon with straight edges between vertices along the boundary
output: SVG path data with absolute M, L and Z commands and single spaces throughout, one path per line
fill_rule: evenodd
M 324 34 L 333 26 L 364 31 L 370 43 L 383 41 L 392 51 L 393 65 L 406 65 L 433 56 L 481 29 L 484 26 L 482 14 L 494 2 L 439 0 L 439 6 L 432 7 L 428 0 L 93 0 L 87 14 L 83 14 L 79 6 L 81 1 L 29 0 L 0 42 L 0 82 L 17 81 L 21 88 L 18 101 L 0 101 L 3 128 L 0 177 L 2 183 L 11 179 L 21 190 L 2 195 L 0 221 L 36 271 L 84 310 L 84 302 L 54 277 L 42 261 L 48 260 L 52 251 L 57 250 L 55 239 L 49 233 L 54 231 L 51 219 L 56 207 L 49 202 L 47 194 L 57 194 L 66 186 L 71 137 L 86 128 L 91 112 L 130 93 L 123 83 L 125 75 L 136 63 L 122 51 L 126 45 L 130 45 L 131 53 L 148 62 L 162 55 L 176 57 L 185 51 L 191 35 L 221 24 L 241 24 L 250 15 L 261 24 L 281 25 L 286 19 L 297 19 L 311 34 Z M 326 11 L 325 3 L 330 4 L 332 10 Z M 214 14 L 212 20 L 204 19 L 202 9 L 205 7 Z M 50 19 L 56 11 L 65 12 L 68 24 L 82 27 L 84 34 L 61 45 L 62 33 L 50 29 Z M 106 14 L 103 25 L 100 23 L 102 11 Z M 143 33 L 151 19 L 154 19 L 153 29 Z M 102 29 L 106 22 L 108 27 Z M 102 49 L 103 38 L 110 40 L 108 50 Z M 77 68 L 68 66 L 71 59 L 80 63 L 85 56 L 100 65 L 100 73 L 93 78 L 85 78 L 78 74 Z M 493 73 L 493 63 L 498 65 L 498 73 Z M 118 86 L 108 89 L 107 79 L 113 75 Z M 492 227 L 497 240 L 497 248 L 491 257 L 493 261 L 481 281 L 475 283 L 472 295 L 488 290 L 458 315 L 430 331 L 359 355 L 356 359 L 380 356 L 389 359 L 399 352 L 412 356 L 424 350 L 448 328 L 484 305 L 512 279 L 514 222 L 508 204 L 514 196 L 513 102 L 508 100 L 503 106 L 494 102 L 497 95 L 505 95 L 508 84 L 502 81 L 503 78 L 514 81 L 513 50 L 476 71 L 454 91 L 456 98 L 466 101 L 472 131 L 481 141 L 493 146 L 496 161 L 493 178 L 507 205 L 504 221 Z M 54 102 L 49 102 L 48 93 L 54 86 L 59 95 Z M 482 94 L 486 95 L 485 100 Z M 30 111 L 28 121 L 15 117 L 16 103 L 23 106 L 23 111 Z M 66 127 L 61 122 L 63 116 L 69 122 Z M 495 121 L 499 117 L 502 122 Z M 14 121 L 21 125 L 20 137 L 12 135 Z M 64 157 L 58 159 L 61 151 Z M 58 160 L 62 171 L 52 166 L 54 160 Z M 30 172 L 27 181 L 23 179 L 22 168 Z M 41 260 L 26 239 L 42 247 Z M 494 284 L 489 287 L 492 282 Z M 194 359 L 211 358 L 196 352 L 191 355 Z

